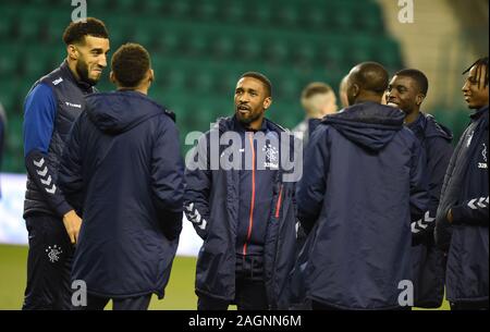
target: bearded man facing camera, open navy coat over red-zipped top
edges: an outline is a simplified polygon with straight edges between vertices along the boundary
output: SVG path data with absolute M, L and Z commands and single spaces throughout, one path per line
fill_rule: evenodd
M 265 118 L 272 95 L 262 74 L 240 77 L 234 103 L 234 116 L 219 119 L 200 137 L 192 155 L 197 164 L 187 163 L 184 211 L 204 239 L 197 307 L 287 309 L 296 242 L 294 182 L 284 179 L 280 156 L 294 137 Z

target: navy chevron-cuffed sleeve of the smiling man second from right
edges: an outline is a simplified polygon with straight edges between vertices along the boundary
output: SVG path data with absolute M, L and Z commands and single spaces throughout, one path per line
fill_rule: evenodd
M 414 245 L 419 243 L 433 244 L 433 229 L 436 214 L 444 182 L 445 171 L 453 153 L 451 142 L 442 137 L 426 140 L 427 145 L 427 177 L 429 190 L 429 205 L 422 218 L 412 222 Z

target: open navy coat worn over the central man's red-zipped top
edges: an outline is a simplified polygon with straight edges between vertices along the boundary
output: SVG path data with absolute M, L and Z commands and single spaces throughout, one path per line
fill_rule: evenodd
M 283 128 L 265 120 L 267 131 L 278 134 Z M 240 170 L 210 168 L 210 137 L 222 137 L 235 128 L 234 118 L 224 118 L 203 135 L 193 160 L 200 167 L 186 170 L 185 213 L 197 233 L 204 238 L 196 268 L 196 293 L 233 302 L 235 297 L 235 247 L 241 195 Z M 293 143 L 293 136 L 287 136 Z M 285 143 L 287 149 L 292 145 Z M 283 152 L 283 145 L 279 153 Z M 220 159 L 229 158 L 229 147 L 219 147 Z M 228 160 L 228 159 L 226 159 Z M 280 160 L 280 159 L 279 159 Z M 188 167 L 188 165 L 187 165 Z M 271 309 L 289 308 L 289 273 L 295 255 L 295 183 L 284 182 L 279 165 L 271 188 L 271 208 L 264 244 L 264 280 Z

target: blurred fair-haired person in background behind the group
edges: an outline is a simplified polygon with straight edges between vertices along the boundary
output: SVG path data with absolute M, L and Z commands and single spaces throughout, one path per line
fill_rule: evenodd
M 330 85 L 326 83 L 310 83 L 303 89 L 302 106 L 306 116 L 293 128 L 293 132 L 296 137 L 303 139 L 303 144 L 307 144 L 311 121 L 322 119 L 327 114 L 336 112 L 338 106 L 335 94 Z

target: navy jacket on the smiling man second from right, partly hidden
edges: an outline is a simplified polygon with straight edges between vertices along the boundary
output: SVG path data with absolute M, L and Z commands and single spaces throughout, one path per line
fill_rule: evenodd
M 453 152 L 453 134 L 432 115 L 424 113 L 407 126 L 426 152 L 430 198 L 424 217 L 412 222 L 414 306 L 439 308 L 444 297 L 445 254 L 434 246 L 433 229 L 445 170 Z

